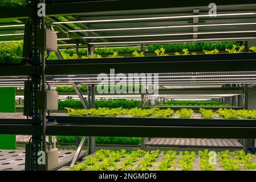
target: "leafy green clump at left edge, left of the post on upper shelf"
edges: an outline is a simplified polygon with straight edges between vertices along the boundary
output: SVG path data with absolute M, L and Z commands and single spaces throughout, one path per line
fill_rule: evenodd
M 23 60 L 23 40 L 0 43 L 0 64 L 18 64 Z

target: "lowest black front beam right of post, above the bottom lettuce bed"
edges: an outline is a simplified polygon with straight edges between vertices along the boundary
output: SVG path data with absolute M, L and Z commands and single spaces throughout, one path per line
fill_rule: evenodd
M 243 138 L 256 137 L 256 127 L 171 127 L 171 126 L 63 126 L 46 128 L 47 135 L 159 138 Z

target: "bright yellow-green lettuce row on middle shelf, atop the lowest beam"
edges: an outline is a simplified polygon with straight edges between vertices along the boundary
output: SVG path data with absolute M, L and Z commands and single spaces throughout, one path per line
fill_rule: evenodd
M 70 116 L 85 116 L 85 117 L 120 117 L 123 115 L 129 115 L 131 117 L 156 117 L 156 118 L 192 118 L 195 113 L 192 109 L 180 109 L 174 112 L 174 110 L 168 109 L 159 109 L 153 107 L 151 109 L 123 109 L 123 108 L 98 108 L 98 109 L 71 109 L 65 108 L 68 111 Z M 200 115 L 198 118 L 211 119 L 214 117 L 221 117 L 224 119 L 256 119 L 256 110 L 233 110 L 233 109 L 219 109 L 214 112 L 211 109 L 202 109 L 200 108 Z

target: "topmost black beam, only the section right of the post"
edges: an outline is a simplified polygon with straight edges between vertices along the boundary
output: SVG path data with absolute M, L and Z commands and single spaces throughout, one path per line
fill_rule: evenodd
M 177 9 L 177 8 L 192 8 L 192 7 L 207 7 L 212 3 L 212 1 L 168 1 L 164 0 L 161 3 L 156 3 L 156 1 L 149 0 L 147 3 L 143 1 L 90 1 L 90 2 L 70 2 L 70 3 L 56 3 L 48 5 L 46 9 L 47 15 L 76 15 L 76 14 L 87 14 L 87 15 L 107 15 L 107 13 L 132 13 L 138 11 L 140 13 L 145 12 L 145 10 L 155 11 L 157 9 Z M 255 4 L 255 1 L 221 1 L 216 0 L 214 3 L 217 6 L 241 6 L 246 4 Z M 134 6 L 136 5 L 136 6 Z

